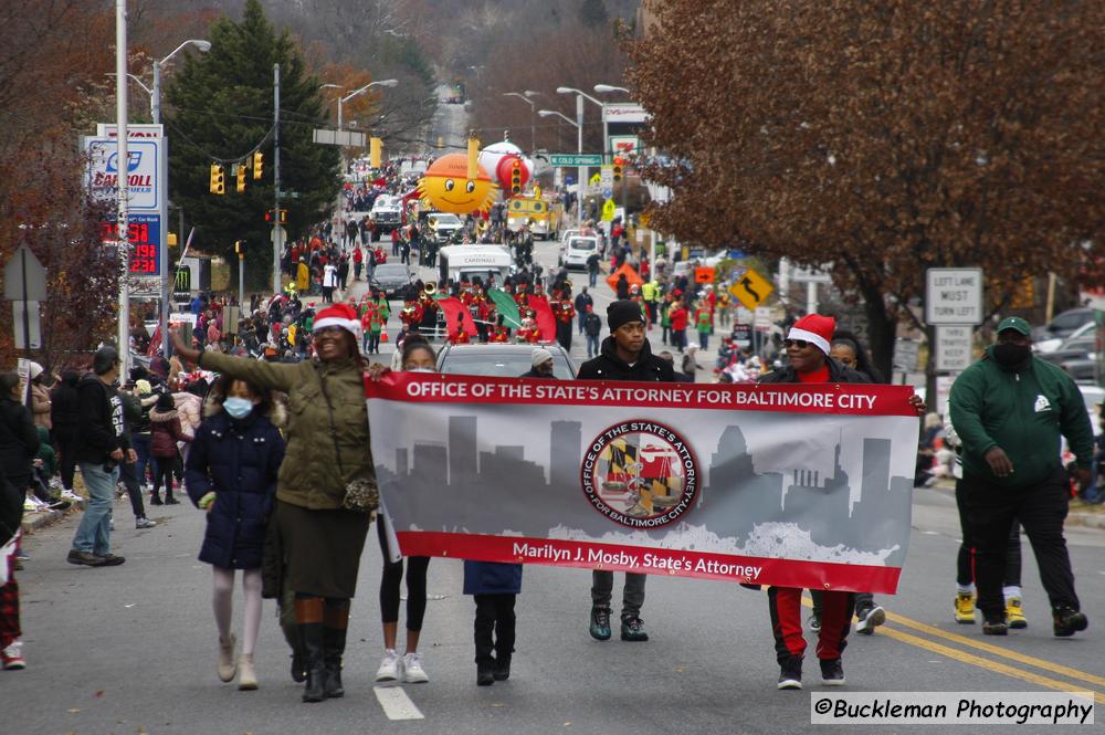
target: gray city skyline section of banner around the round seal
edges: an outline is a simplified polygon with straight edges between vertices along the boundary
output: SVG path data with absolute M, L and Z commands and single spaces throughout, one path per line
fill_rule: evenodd
M 865 419 L 871 429 L 852 437 L 831 416 L 804 417 L 807 422 L 827 422 L 815 432 L 822 440 L 830 433 L 825 429 L 836 427 L 831 431 L 835 441 L 824 445 L 792 437 L 780 442 L 779 429 L 792 432 L 793 421 L 765 421 L 759 413 L 743 422 L 732 412 L 713 417 L 695 412 L 699 423 L 704 413 L 714 419 L 708 421 L 709 432 L 699 427 L 696 435 L 716 439 L 706 447 L 699 440 L 693 448 L 702 484 L 692 508 L 673 525 L 629 531 L 597 512 L 572 510 L 576 504 L 589 505 L 581 487 L 581 462 L 594 437 L 585 426 L 594 427 L 596 432 L 610 426 L 608 410 L 573 407 L 571 414 L 600 411 L 606 418 L 555 420 L 544 431 L 536 421 L 518 431 L 516 420 L 512 423 L 505 412 L 493 409 L 483 409 L 478 418 L 464 414 L 459 407 L 453 410 L 457 412 L 433 419 L 421 416 L 444 429 L 444 441 L 420 439 L 410 447 L 390 447 L 386 452 L 390 455 L 373 458 L 381 486 L 393 487 L 401 498 L 399 507 L 389 501 L 388 508 L 396 516 L 397 531 L 413 529 L 400 524 L 406 508 L 418 507 L 418 529 L 422 531 L 499 534 L 505 515 L 505 527 L 527 537 L 602 540 L 641 534 L 661 545 L 669 537 L 684 546 L 688 539 L 692 544 L 698 539 L 703 548 L 730 553 L 771 548 L 776 550 L 772 556 L 787 558 L 828 556 L 886 565 L 905 558 L 899 539 L 902 524 L 908 528 L 913 479 L 892 476 L 896 448 L 886 438 L 892 432 L 880 431 L 881 417 Z M 650 417 L 653 413 L 672 423 L 667 417 L 677 411 L 650 411 Z M 412 426 L 420 420 L 417 414 L 408 414 Z M 627 414 L 623 420 L 631 419 Z M 427 429 L 422 422 L 420 431 L 408 435 L 425 437 Z M 746 432 L 761 431 L 771 434 L 774 441 L 765 443 L 777 455 L 749 449 Z M 387 442 L 373 438 L 373 448 L 380 443 Z M 503 503 L 495 508 L 495 517 L 488 517 L 488 486 L 509 487 L 511 500 L 516 493 L 518 502 Z

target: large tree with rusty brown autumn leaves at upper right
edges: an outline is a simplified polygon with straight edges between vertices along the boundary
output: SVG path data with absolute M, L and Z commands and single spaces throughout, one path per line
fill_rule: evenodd
M 627 42 L 672 187 L 653 225 L 832 263 L 890 374 L 925 269 L 1025 276 L 1103 261 L 1105 4 L 666 0 Z

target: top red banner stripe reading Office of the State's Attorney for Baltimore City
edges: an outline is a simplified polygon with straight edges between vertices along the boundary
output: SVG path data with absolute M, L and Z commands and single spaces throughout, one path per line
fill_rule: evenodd
M 472 375 L 386 372 L 365 378 L 365 396 L 415 403 L 529 403 L 544 406 L 635 406 L 788 413 L 917 416 L 912 386 L 861 384 L 622 382 L 520 380 Z

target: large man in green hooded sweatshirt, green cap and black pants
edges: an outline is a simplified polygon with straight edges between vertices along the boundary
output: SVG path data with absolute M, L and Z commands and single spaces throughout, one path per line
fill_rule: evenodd
M 1088 626 L 1074 592 L 1063 538 L 1069 484 L 1060 438 L 1077 458 L 1078 482 L 1090 482 L 1093 428 L 1077 386 L 1059 366 L 1032 355 L 1032 329 L 1020 317 L 998 325 L 997 344 L 951 386 L 948 410 L 962 441 L 964 498 L 975 544 L 975 582 L 982 632 L 1008 631 L 1001 594 L 1004 547 L 1013 519 L 1032 542 L 1051 600 L 1054 633 Z

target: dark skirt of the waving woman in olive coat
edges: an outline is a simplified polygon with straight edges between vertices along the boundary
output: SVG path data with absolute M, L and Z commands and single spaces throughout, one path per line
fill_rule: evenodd
M 275 515 L 287 564 L 285 585 L 301 595 L 354 597 L 371 516 L 309 511 L 283 501 L 276 501 Z

